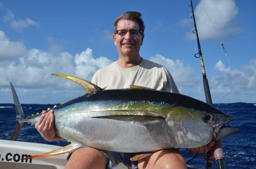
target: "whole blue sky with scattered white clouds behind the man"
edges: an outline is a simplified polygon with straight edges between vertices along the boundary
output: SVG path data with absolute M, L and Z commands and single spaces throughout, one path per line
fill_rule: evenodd
M 139 11 L 145 23 L 140 55 L 172 74 L 180 93 L 205 102 L 189 0 L 0 0 L 0 103 L 67 102 L 86 91 L 65 74 L 91 81 L 118 59 L 113 23 Z M 213 103 L 256 102 L 256 1 L 194 0 Z M 222 45 L 223 44 L 223 45 Z

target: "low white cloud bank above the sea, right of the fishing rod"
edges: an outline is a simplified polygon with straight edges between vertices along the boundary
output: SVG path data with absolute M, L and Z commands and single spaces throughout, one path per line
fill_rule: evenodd
M 210 80 L 212 93 L 224 96 L 233 102 L 256 100 L 256 60 L 244 65 L 241 70 L 226 67 L 221 60 L 215 65 L 220 74 Z

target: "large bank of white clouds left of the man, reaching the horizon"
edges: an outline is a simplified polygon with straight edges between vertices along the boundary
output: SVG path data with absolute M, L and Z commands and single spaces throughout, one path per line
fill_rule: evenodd
M 2 103 L 12 103 L 9 82 L 13 83 L 20 98 L 26 98 L 26 102 L 22 103 L 68 101 L 85 92 L 74 82 L 51 74 L 71 75 L 91 81 L 96 70 L 112 62 L 106 57 L 94 57 L 93 50 L 89 48 L 72 56 L 68 52 L 61 51 L 61 46 L 52 40 L 49 43 L 51 48 L 47 51 L 27 50 L 22 42 L 13 42 L 3 31 L 0 31 Z

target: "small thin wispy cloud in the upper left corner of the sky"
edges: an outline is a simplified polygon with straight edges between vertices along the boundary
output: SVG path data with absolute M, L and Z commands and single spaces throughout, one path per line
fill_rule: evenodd
M 10 23 L 11 27 L 17 32 L 23 31 L 25 28 L 28 27 L 40 26 L 40 23 L 30 18 L 16 19 L 14 14 L 10 10 L 7 10 L 7 14 L 4 16 L 4 19 L 6 22 Z

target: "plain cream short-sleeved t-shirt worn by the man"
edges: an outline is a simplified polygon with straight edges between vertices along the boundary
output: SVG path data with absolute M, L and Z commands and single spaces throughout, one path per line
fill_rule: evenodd
M 137 85 L 179 93 L 170 73 L 163 66 L 146 59 L 130 68 L 123 68 L 113 62 L 96 71 L 92 83 L 102 89 L 122 89 Z

